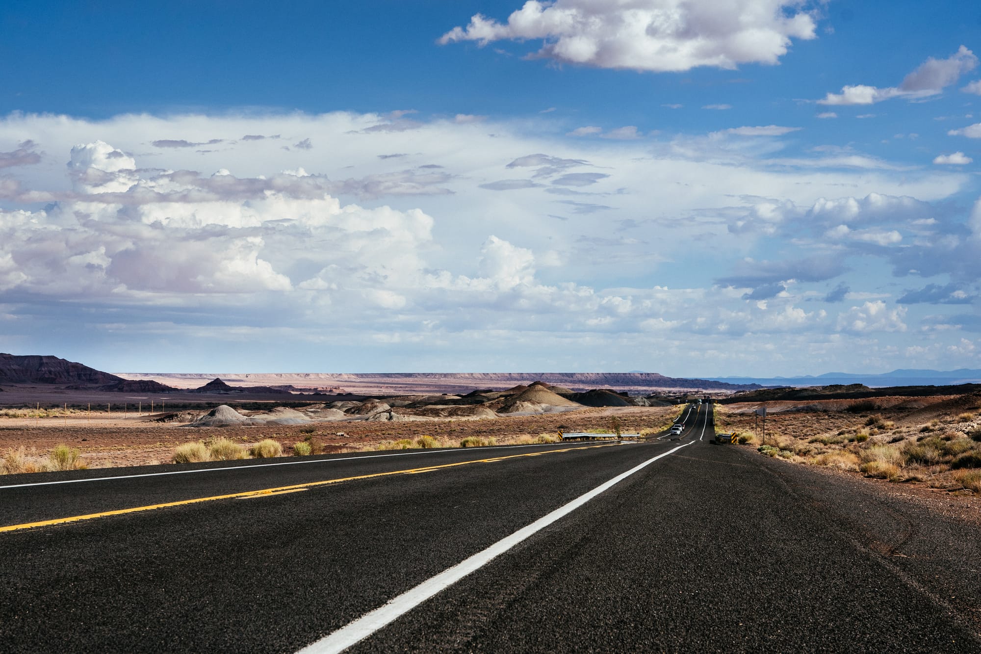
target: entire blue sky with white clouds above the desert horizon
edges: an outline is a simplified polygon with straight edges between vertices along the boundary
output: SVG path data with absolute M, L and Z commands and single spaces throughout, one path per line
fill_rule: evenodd
M 981 367 L 981 5 L 0 6 L 0 351 Z

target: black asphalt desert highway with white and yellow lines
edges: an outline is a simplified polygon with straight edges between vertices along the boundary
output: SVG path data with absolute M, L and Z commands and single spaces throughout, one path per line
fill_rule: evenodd
M 642 443 L 0 477 L 0 651 L 981 651 L 976 523 L 714 444 L 711 410 Z

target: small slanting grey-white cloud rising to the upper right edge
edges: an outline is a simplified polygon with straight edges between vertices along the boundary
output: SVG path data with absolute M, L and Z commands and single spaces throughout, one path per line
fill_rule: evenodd
M 908 74 L 899 86 L 847 85 L 842 87 L 841 93 L 828 93 L 817 102 L 827 105 L 875 104 L 894 97 L 915 99 L 937 95 L 957 82 L 961 75 L 974 70 L 977 65 L 978 58 L 961 45 L 947 59 L 930 57 Z

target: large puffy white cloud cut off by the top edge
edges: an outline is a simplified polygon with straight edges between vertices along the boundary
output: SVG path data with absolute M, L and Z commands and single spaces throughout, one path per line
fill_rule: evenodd
M 506 23 L 481 14 L 439 43 L 539 40 L 538 57 L 598 68 L 688 71 L 777 64 L 815 22 L 790 0 L 529 0 Z

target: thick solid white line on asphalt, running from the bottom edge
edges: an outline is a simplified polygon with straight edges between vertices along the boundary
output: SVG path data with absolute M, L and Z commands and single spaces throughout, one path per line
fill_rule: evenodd
M 518 529 L 510 536 L 497 541 L 483 552 L 478 552 L 474 556 L 461 561 L 452 568 L 439 572 L 439 574 L 431 579 L 423 581 L 415 588 L 407 590 L 398 597 L 388 600 L 385 605 L 375 609 L 371 613 L 365 614 L 361 618 L 355 620 L 353 623 L 348 624 L 346 627 L 340 627 L 334 633 L 321 638 L 315 643 L 307 645 L 299 651 L 299 654 L 334 654 L 335 652 L 342 652 L 354 643 L 363 640 L 375 631 L 378 631 L 380 628 L 385 627 L 388 623 L 394 621 L 399 616 L 408 613 L 415 607 L 439 593 L 440 590 L 443 590 L 456 583 L 471 572 L 475 572 L 483 568 L 485 565 L 490 563 L 492 559 L 500 556 L 504 552 L 507 552 L 509 549 L 527 539 L 537 531 L 542 530 L 555 520 L 572 513 L 603 491 L 618 484 L 635 472 L 642 470 L 650 463 L 654 463 L 658 459 L 663 459 L 670 454 L 674 454 L 675 452 L 678 452 L 678 450 L 688 447 L 694 442 L 695 441 L 689 441 L 685 445 L 679 445 L 673 450 L 668 450 L 663 454 L 659 454 L 652 459 L 648 459 L 644 463 L 630 468 L 626 472 L 618 474 L 609 481 L 596 486 L 585 495 L 579 496 L 572 502 L 569 502 L 568 504 L 556 509 L 547 516 L 539 518 L 528 526 Z

